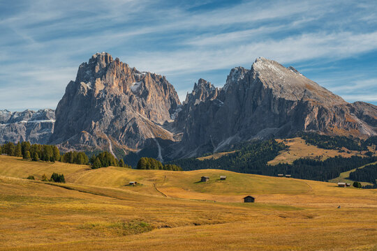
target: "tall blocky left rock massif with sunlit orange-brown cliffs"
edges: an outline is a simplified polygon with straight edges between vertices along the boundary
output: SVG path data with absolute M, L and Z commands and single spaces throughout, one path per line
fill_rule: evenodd
M 154 144 L 161 159 L 160 142 L 175 141 L 162 125 L 172 120 L 179 105 L 165 77 L 97 53 L 80 65 L 75 81 L 66 87 L 50 143 L 66 149 L 105 149 L 115 155 Z

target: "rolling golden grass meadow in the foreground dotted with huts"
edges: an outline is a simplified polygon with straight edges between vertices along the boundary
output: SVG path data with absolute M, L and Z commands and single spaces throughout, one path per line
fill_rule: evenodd
M 25 179 L 52 172 L 67 183 Z M 377 250 L 377 190 L 214 169 L 0 156 L 0 218 L 0 250 Z

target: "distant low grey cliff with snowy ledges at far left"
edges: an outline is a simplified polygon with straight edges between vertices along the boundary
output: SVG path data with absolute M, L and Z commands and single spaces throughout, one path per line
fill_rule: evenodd
M 54 132 L 55 112 L 40 109 L 38 112 L 0 111 L 0 144 L 29 141 L 46 144 Z

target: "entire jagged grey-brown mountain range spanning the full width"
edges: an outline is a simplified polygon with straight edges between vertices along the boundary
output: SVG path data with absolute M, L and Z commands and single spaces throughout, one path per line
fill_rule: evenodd
M 263 57 L 250 69 L 232 68 L 222 88 L 199 79 L 181 104 L 164 76 L 103 52 L 80 65 L 55 113 L 1 111 L 0 128 L 0 142 L 170 160 L 300 131 L 375 136 L 377 107 L 346 102 L 292 66 Z

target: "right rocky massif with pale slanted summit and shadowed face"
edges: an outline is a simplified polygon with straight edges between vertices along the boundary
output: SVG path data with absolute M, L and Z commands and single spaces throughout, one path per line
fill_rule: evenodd
M 295 68 L 259 58 L 250 70 L 233 68 L 222 89 L 200 79 L 187 95 L 175 126 L 184 135 L 171 158 L 298 131 L 369 137 L 377 135 L 377 107 L 350 104 Z

